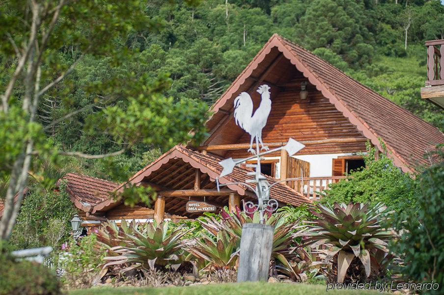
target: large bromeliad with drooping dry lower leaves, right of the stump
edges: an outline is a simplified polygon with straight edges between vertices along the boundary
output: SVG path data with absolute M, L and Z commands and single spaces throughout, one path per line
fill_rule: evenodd
M 296 236 L 309 237 L 304 245 L 313 248 L 330 245 L 325 257 L 325 263 L 333 263 L 328 281 L 362 282 L 371 274 L 372 277 L 379 276 L 381 256 L 387 258 L 387 241 L 393 237 L 380 224 L 382 218 L 387 218 L 386 207 L 382 204 L 370 207 L 361 203 L 334 203 L 333 208 L 319 204 L 318 209 L 320 213 L 314 213 L 318 218 L 311 220 L 306 232 Z

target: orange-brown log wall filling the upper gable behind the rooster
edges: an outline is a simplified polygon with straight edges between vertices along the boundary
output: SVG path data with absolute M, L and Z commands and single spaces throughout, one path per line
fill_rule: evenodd
M 303 78 L 297 78 L 287 82 L 285 90 L 273 98 L 267 125 L 262 130 L 263 142 L 287 141 L 289 137 L 299 141 L 358 137 L 362 138 L 361 142 L 307 145 L 298 155 L 365 151 L 365 137 L 313 85 L 307 85 L 308 99 L 300 99 L 297 86 L 302 81 Z M 235 143 L 245 142 L 250 142 L 250 134 L 244 132 Z M 247 155 L 246 150 L 232 150 L 226 157 Z

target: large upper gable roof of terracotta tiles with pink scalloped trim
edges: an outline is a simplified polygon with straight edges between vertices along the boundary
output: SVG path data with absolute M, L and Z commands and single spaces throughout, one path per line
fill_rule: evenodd
M 278 34 L 268 40 L 247 68 L 212 106 L 214 114 L 207 125 L 216 125 L 214 120 L 219 120 L 220 116 L 215 114 L 226 105 L 232 105 L 232 100 L 242 88 L 241 85 L 275 47 L 382 151 L 383 147 L 379 142 L 381 138 L 393 163 L 403 171 L 414 171 L 417 164 L 426 162 L 423 154 L 431 145 L 444 143 L 444 134 L 436 127 Z

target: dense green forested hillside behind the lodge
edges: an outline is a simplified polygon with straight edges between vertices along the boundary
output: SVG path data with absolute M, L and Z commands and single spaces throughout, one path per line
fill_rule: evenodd
M 84 132 L 83 123 L 102 108 L 102 99 L 123 109 L 134 107 L 125 99 L 126 88 L 149 92 L 161 87 L 184 106 L 197 104 L 200 110 L 211 105 L 273 33 L 444 130 L 443 111 L 419 96 L 426 77 L 424 41 L 444 38 L 439 0 L 150 0 L 138 13 L 149 26 L 112 39 L 120 59 L 85 54 L 64 87 L 42 97 L 38 121 L 60 149 L 85 154 L 119 150 L 122 142 L 107 132 Z M 82 35 L 82 29 L 73 34 Z M 59 48 L 57 60 L 66 64 L 81 51 L 75 43 Z M 121 86 L 117 90 L 115 83 Z M 79 111 L 63 119 L 73 110 Z M 112 118 L 112 109 L 108 114 Z M 122 181 L 165 149 L 157 147 L 156 142 L 138 142 L 113 158 L 76 161 L 84 173 Z

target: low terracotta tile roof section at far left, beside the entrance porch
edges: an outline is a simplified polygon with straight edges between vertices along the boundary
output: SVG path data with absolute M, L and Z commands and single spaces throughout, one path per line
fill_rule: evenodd
M 111 191 L 118 187 L 117 183 L 79 173 L 67 173 L 61 180 L 67 181 L 66 191 L 83 211 L 108 199 Z

